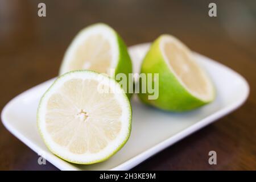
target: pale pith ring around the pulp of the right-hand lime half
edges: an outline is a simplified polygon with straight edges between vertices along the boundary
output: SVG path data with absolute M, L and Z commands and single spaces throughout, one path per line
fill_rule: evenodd
M 200 74 L 200 81 L 203 81 L 205 86 L 205 90 L 207 90 L 204 94 L 202 93 L 198 93 L 195 90 L 189 89 L 189 87 L 183 82 L 183 80 L 180 78 L 179 75 L 177 75 L 175 69 L 172 67 L 172 65 L 169 63 L 169 60 L 167 55 L 166 55 L 166 51 L 164 51 L 164 46 L 166 46 L 167 43 L 172 43 L 175 45 L 175 47 L 179 48 L 180 50 L 183 51 L 183 53 L 189 57 L 189 59 L 186 59 L 185 61 L 191 61 L 189 63 L 192 63 L 197 71 L 199 71 Z M 199 67 L 199 65 L 196 63 L 195 58 L 192 55 L 192 52 L 182 43 L 180 42 L 180 40 L 176 39 L 174 36 L 171 35 L 163 35 L 160 38 L 160 51 L 164 57 L 164 61 L 166 61 L 166 64 L 168 65 L 168 68 L 170 69 L 170 71 L 175 75 L 175 77 L 177 78 L 177 80 L 180 82 L 181 85 L 184 86 L 184 88 L 191 93 L 194 97 L 199 98 L 199 100 L 202 100 L 204 102 L 208 102 L 213 100 L 214 97 L 214 89 L 213 89 L 213 85 L 212 82 L 209 80 L 208 76 L 206 75 L 206 73 Z M 175 52 L 173 52 L 175 54 Z M 184 70 L 185 68 L 190 69 L 189 67 L 187 67 L 186 65 L 184 65 Z M 193 75 L 190 75 L 191 77 L 193 77 Z

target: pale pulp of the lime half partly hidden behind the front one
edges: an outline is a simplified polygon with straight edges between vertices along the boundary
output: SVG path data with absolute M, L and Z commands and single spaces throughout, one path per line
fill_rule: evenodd
M 101 34 L 88 36 L 75 50 L 69 61 L 69 71 L 90 69 L 99 73 L 108 73 L 112 60 L 109 40 Z

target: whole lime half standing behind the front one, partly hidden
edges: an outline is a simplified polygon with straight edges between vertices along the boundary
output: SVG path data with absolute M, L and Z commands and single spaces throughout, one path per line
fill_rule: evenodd
M 132 73 L 126 45 L 113 28 L 97 23 L 84 28 L 76 35 L 65 52 L 60 75 L 82 69 L 106 73 L 113 78 L 118 73 L 124 73 L 128 78 L 128 74 Z M 129 82 L 122 86 L 128 93 Z M 129 94 L 128 96 L 130 97 Z

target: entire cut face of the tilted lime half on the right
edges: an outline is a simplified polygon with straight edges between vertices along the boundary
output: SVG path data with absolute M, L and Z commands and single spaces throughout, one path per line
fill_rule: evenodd
M 213 86 L 196 63 L 191 51 L 178 39 L 164 35 L 160 49 L 171 72 L 188 92 L 204 101 L 212 100 Z

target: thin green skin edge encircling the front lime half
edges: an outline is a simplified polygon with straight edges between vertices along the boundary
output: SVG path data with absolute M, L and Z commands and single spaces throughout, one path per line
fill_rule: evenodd
M 89 70 L 79 70 L 79 71 L 71 71 L 71 72 L 67 72 L 67 73 L 64 73 L 63 75 L 57 77 L 57 79 L 53 82 L 53 84 L 46 90 L 46 92 L 43 94 L 42 98 L 40 99 L 40 102 L 39 102 L 39 105 L 38 105 L 38 110 L 37 110 L 37 113 L 36 113 L 36 124 L 37 124 L 37 127 L 38 127 L 38 131 L 39 131 L 39 134 L 40 136 L 42 137 L 44 143 L 46 144 L 47 148 L 49 151 L 51 151 L 53 154 L 55 154 L 56 156 L 58 156 L 59 158 L 63 159 L 63 160 L 66 160 L 67 162 L 70 162 L 70 163 L 75 163 L 75 164 L 95 164 L 95 163 L 100 163 L 100 162 L 104 162 L 105 160 L 109 159 L 111 156 L 113 156 L 115 153 L 117 153 L 124 145 L 125 143 L 127 142 L 127 140 L 129 139 L 130 137 L 130 134 L 131 134 L 131 120 L 132 120 L 132 109 L 131 109 L 131 105 L 130 105 L 130 101 L 129 101 L 129 98 L 126 96 L 126 94 L 123 94 L 123 96 L 126 98 L 126 101 L 127 101 L 127 104 L 129 105 L 129 132 L 127 133 L 126 135 L 126 138 L 125 140 L 123 140 L 123 142 L 115 149 L 113 150 L 113 152 L 106 156 L 105 158 L 102 158 L 102 159 L 98 159 L 98 160 L 92 160 L 90 162 L 80 162 L 80 161 L 77 161 L 77 160 L 71 160 L 71 159 L 67 159 L 67 158 L 63 158 L 63 156 L 61 156 L 60 154 L 58 154 L 55 150 L 53 150 L 49 144 L 46 142 L 46 139 L 44 138 L 44 134 L 42 132 L 42 130 L 40 129 L 40 125 L 39 125 L 39 122 L 40 122 L 40 109 L 41 109 L 41 103 L 42 103 L 42 100 L 44 99 L 44 96 L 46 96 L 47 92 L 49 90 L 51 90 L 51 88 L 53 87 L 53 85 L 56 84 L 56 82 L 60 81 L 62 77 L 65 77 L 66 75 L 68 74 L 72 74 L 72 73 L 76 73 L 76 72 L 93 72 L 93 73 L 96 73 L 98 74 L 97 72 L 94 72 L 94 71 L 89 71 Z M 108 77 L 108 76 L 106 76 Z M 109 77 L 110 78 L 110 77 Z M 110 78 L 112 80 L 114 80 L 113 78 Z

